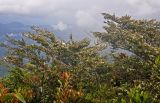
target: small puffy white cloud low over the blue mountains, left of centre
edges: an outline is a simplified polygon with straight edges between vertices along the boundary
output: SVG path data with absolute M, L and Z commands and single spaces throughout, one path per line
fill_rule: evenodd
M 59 21 L 56 25 L 52 26 L 55 30 L 64 31 L 68 28 L 67 24 L 63 23 L 62 21 Z

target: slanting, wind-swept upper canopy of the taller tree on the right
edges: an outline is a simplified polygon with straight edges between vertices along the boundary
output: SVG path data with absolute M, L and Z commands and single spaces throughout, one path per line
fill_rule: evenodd
M 130 16 L 115 17 L 104 13 L 107 26 L 106 32 L 94 35 L 114 48 L 132 52 L 152 64 L 160 54 L 160 23 L 156 20 L 134 20 Z

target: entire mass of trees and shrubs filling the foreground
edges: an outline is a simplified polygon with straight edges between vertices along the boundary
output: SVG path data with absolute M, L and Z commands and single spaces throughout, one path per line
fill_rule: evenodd
M 7 36 L 0 102 L 159 103 L 160 22 L 103 15 L 105 32 L 93 33 L 101 41 L 93 46 L 72 35 L 61 41 L 39 27 L 21 39 Z M 111 63 L 101 56 L 108 46 Z

